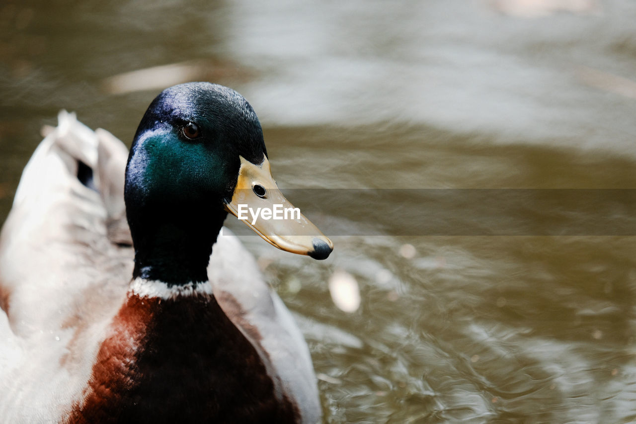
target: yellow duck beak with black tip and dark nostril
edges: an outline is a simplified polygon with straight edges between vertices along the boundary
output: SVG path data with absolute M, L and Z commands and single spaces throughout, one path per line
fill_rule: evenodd
M 240 157 L 239 180 L 225 208 L 280 250 L 314 259 L 326 259 L 333 250 L 331 240 L 282 195 L 266 157 L 260 165 Z

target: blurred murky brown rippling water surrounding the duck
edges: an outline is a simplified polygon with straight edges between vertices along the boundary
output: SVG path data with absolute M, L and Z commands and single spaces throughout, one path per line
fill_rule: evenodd
M 242 237 L 307 338 L 325 422 L 636 421 L 634 231 L 424 236 L 408 190 L 373 195 L 636 188 L 635 22 L 631 0 L 4 0 L 0 221 L 60 109 L 130 145 L 163 88 L 228 85 L 291 201 L 356 229 L 324 262 Z M 370 191 L 317 211 L 310 188 Z

